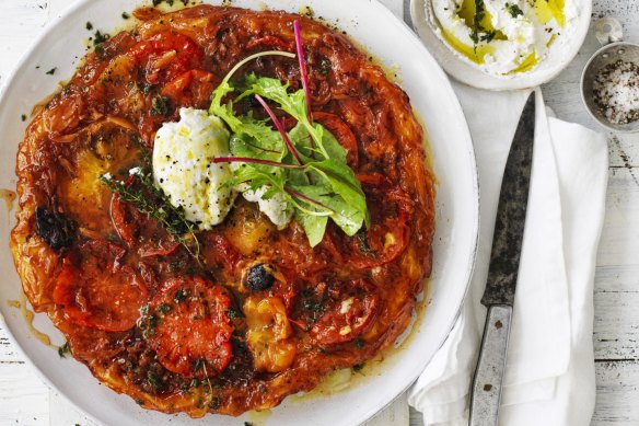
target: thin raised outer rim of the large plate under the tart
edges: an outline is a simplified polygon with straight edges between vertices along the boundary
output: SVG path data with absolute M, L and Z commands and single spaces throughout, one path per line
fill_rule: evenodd
M 108 1 L 108 0 L 97 0 L 97 1 L 104 2 L 104 1 Z M 282 10 L 283 9 L 282 5 L 274 4 L 275 0 L 266 0 L 266 1 L 271 3 L 271 4 L 268 4 L 270 9 L 274 9 L 274 10 Z M 364 1 L 364 0 L 360 0 L 360 1 Z M 35 50 L 39 47 L 39 45 L 43 43 L 43 41 L 45 41 L 50 35 L 50 33 L 54 32 L 58 27 L 58 25 L 60 25 L 62 22 L 65 22 L 71 14 L 77 13 L 79 10 L 81 10 L 85 7 L 89 7 L 90 4 L 92 4 L 94 2 L 96 2 L 96 0 L 77 0 L 77 1 L 68 4 L 67 7 L 65 7 L 59 12 L 59 14 L 57 16 L 55 16 L 54 19 L 51 19 L 50 21 L 48 21 L 46 23 L 46 25 L 43 27 L 43 30 L 40 31 L 38 36 L 35 37 L 35 39 L 32 42 L 30 47 L 27 49 L 25 49 L 25 51 L 21 55 L 21 57 L 18 60 L 18 62 L 15 64 L 15 66 L 9 72 L 8 78 L 4 79 L 3 84 L 0 85 L 0 107 L 5 103 L 5 100 L 10 96 L 13 83 L 19 78 L 20 71 L 26 66 L 26 62 L 31 59 L 31 57 L 34 55 Z M 212 5 L 219 5 L 218 3 L 221 3 L 221 2 L 222 2 L 222 0 L 204 0 L 205 4 L 212 4 Z M 440 78 L 443 79 L 443 81 L 445 81 L 445 91 L 448 92 L 448 95 L 450 96 L 450 100 L 453 104 L 453 107 L 456 110 L 456 113 L 463 118 L 463 123 L 457 123 L 456 125 L 462 127 L 462 133 L 464 134 L 464 139 L 466 139 L 465 148 L 466 148 L 467 152 L 465 153 L 465 157 L 467 157 L 467 160 L 469 161 L 469 164 L 472 165 L 472 171 L 469 174 L 472 176 L 472 192 L 473 192 L 473 196 L 474 196 L 473 217 L 472 217 L 473 220 L 470 223 L 472 229 L 473 229 L 473 242 L 472 242 L 472 246 L 469 246 L 469 253 L 467 255 L 465 255 L 465 257 L 467 257 L 467 264 L 465 265 L 465 273 L 464 273 L 464 281 L 465 281 L 464 292 L 463 292 L 463 297 L 461 298 L 458 306 L 456 308 L 456 312 L 453 315 L 451 323 L 446 327 L 448 330 L 445 332 L 444 338 L 438 345 L 438 349 L 432 353 L 432 356 L 430 357 L 430 359 L 423 364 L 423 366 L 426 368 L 426 366 L 428 366 L 428 364 L 430 364 L 430 361 L 432 360 L 432 357 L 434 357 L 434 355 L 438 353 L 438 350 L 441 349 L 441 347 L 444 345 L 445 341 L 449 338 L 449 335 L 450 335 L 452 329 L 456 324 L 458 316 L 461 315 L 461 312 L 462 312 L 462 309 L 464 306 L 464 301 L 466 300 L 466 298 L 468 296 L 469 286 L 470 286 L 470 281 L 472 281 L 472 277 L 473 277 L 473 273 L 474 273 L 474 268 L 475 268 L 475 261 L 476 261 L 476 255 L 478 252 L 479 222 L 480 222 L 480 217 L 479 217 L 480 216 L 480 212 L 479 212 L 480 192 L 479 192 L 479 181 L 478 181 L 478 173 L 477 173 L 476 153 L 475 153 L 475 148 L 473 145 L 473 138 L 470 135 L 470 130 L 469 130 L 468 124 L 467 124 L 466 118 L 465 118 L 465 114 L 463 112 L 463 108 L 461 106 L 458 97 L 457 97 L 455 91 L 453 90 L 451 81 L 450 81 L 449 77 L 446 76 L 446 73 L 444 72 L 444 70 L 442 69 L 441 65 L 435 59 L 435 57 L 423 45 L 423 43 L 419 38 L 418 34 L 410 28 L 410 26 L 406 23 L 406 21 L 404 21 L 404 20 L 409 19 L 410 16 L 406 14 L 404 16 L 404 20 L 399 19 L 388 8 L 386 8 L 380 0 L 368 0 L 368 2 L 369 2 L 369 5 L 376 8 L 377 9 L 376 12 L 383 14 L 384 19 L 394 22 L 396 25 L 398 25 L 402 28 L 402 32 L 406 36 L 405 41 L 410 41 L 410 43 L 414 45 L 414 47 L 417 50 L 419 50 L 421 53 L 421 55 L 423 55 L 428 60 L 430 60 L 432 62 L 432 65 L 433 65 L 432 71 L 439 73 Z M 137 4 L 135 4 L 136 7 L 144 4 L 144 0 L 137 0 L 136 3 L 137 3 Z M 246 9 L 246 8 L 244 8 L 244 9 Z M 428 128 L 425 125 L 423 125 L 423 127 L 425 127 L 426 133 L 428 134 Z M 20 142 L 20 141 L 18 141 L 18 142 Z M 440 183 L 435 184 L 435 186 L 439 187 Z M 437 196 L 435 196 L 435 199 L 437 199 Z M 14 223 L 12 223 L 12 226 L 13 224 Z M 9 227 L 9 230 L 12 229 L 12 226 Z M 7 246 L 4 250 L 9 251 L 9 247 Z M 428 304 L 427 301 L 425 301 L 423 303 Z M 5 330 L 10 342 L 13 344 L 13 347 L 22 356 L 22 358 L 26 361 L 26 364 L 28 366 L 31 366 L 31 368 L 36 373 L 36 376 L 49 389 L 54 390 L 58 395 L 62 396 L 66 401 L 71 403 L 82 415 L 86 416 L 89 419 L 95 422 L 96 424 L 103 424 L 103 421 L 97 415 L 95 415 L 92 412 L 92 410 L 88 410 L 88 408 L 83 407 L 81 402 L 75 401 L 74 398 L 72 398 L 72 396 L 68 395 L 67 393 L 65 393 L 63 391 L 61 391 L 61 389 L 56 383 L 54 383 L 54 381 L 51 379 L 49 379 L 49 377 L 43 371 L 43 369 L 36 364 L 36 361 L 34 359 L 32 359 L 32 357 L 26 353 L 26 350 L 23 348 L 23 346 L 19 343 L 18 338 L 14 336 L 14 332 L 11 329 L 11 326 L 9 325 L 9 323 L 2 316 L 3 310 L 4 310 L 4 307 L 0 306 L 0 322 L 3 325 L 3 329 Z M 427 311 L 428 311 L 428 309 L 427 309 Z M 426 313 L 426 314 L 428 314 L 428 313 Z M 75 359 L 73 359 L 73 360 L 79 362 Z M 84 368 L 86 368 L 86 367 L 84 366 Z M 393 395 L 385 405 L 379 406 L 379 407 L 371 407 L 368 411 L 362 411 L 360 424 L 365 423 L 367 421 L 371 419 L 377 413 L 380 413 L 385 407 L 391 405 L 397 398 L 399 398 L 402 395 L 402 393 L 406 392 L 406 390 L 408 390 L 414 384 L 415 380 L 417 380 L 417 378 L 419 377 L 421 371 L 422 371 L 422 369 L 420 369 L 416 375 L 414 375 L 415 377 L 410 377 L 410 379 L 407 380 L 407 384 L 404 388 L 404 390 L 402 392 L 399 392 L 398 394 Z M 115 391 L 113 391 L 113 390 L 109 390 L 109 391 L 115 393 Z M 170 416 L 171 416 L 169 414 L 165 414 L 165 415 L 166 415 L 166 418 L 170 418 Z

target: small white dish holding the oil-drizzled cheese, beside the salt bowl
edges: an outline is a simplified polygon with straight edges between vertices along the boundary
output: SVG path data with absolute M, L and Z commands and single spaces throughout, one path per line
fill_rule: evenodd
M 456 80 L 479 89 L 516 90 L 534 88 L 553 80 L 568 66 L 583 44 L 590 25 L 592 0 L 573 0 L 579 13 L 572 34 L 558 37 L 548 55 L 533 70 L 512 76 L 490 76 L 460 58 L 437 34 L 427 7 L 431 0 L 410 0 L 413 26 L 438 62 Z

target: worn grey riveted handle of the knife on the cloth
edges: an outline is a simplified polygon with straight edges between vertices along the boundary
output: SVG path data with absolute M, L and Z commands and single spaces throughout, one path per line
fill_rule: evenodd
M 470 391 L 469 426 L 497 426 L 511 320 L 512 307 L 488 308 Z

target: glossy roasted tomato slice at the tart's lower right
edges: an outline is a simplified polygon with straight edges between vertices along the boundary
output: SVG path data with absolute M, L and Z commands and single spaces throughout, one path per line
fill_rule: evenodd
M 375 287 L 363 279 L 341 283 L 325 303 L 327 310 L 311 326 L 311 337 L 323 345 L 352 342 L 374 323 L 380 308 Z M 337 296 L 337 297 L 335 297 Z

